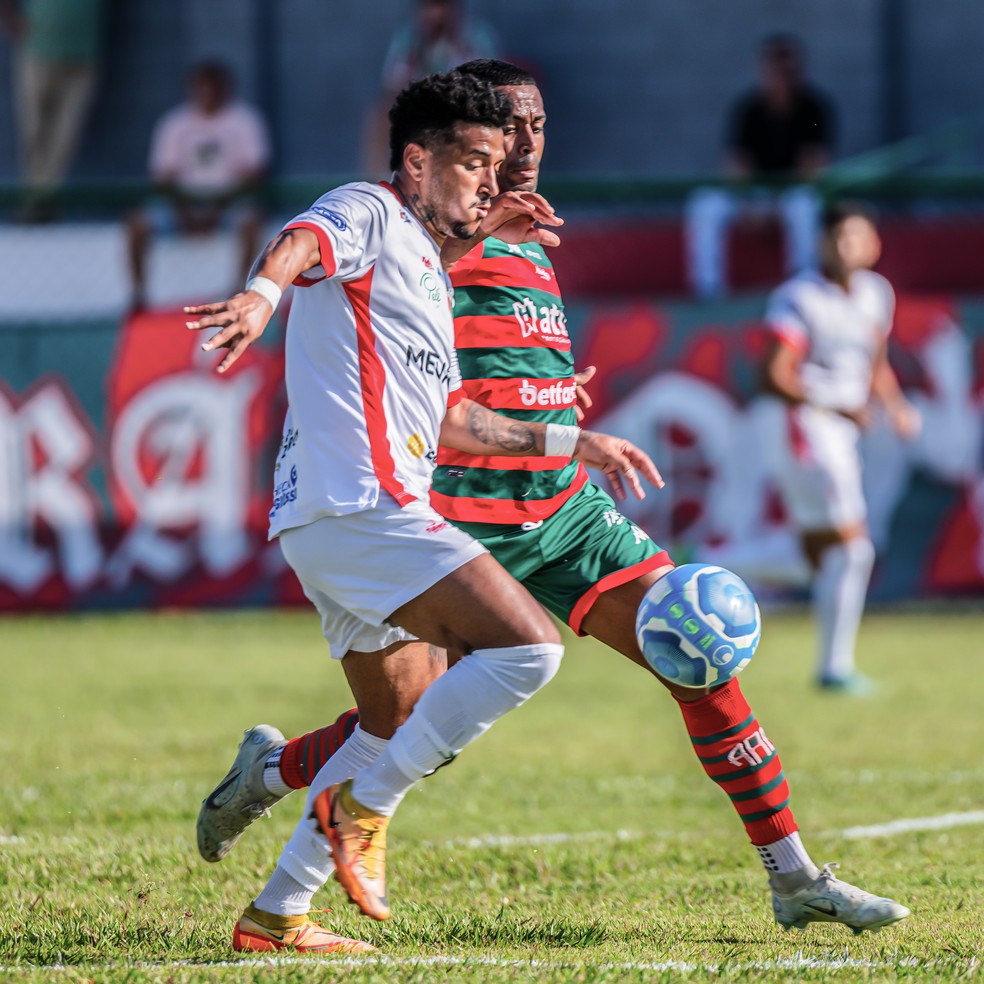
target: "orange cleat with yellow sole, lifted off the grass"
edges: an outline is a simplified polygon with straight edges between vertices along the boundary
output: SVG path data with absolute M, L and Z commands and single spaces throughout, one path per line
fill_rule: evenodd
M 335 877 L 349 898 L 372 919 L 389 919 L 386 900 L 386 828 L 389 817 L 352 798 L 352 780 L 329 786 L 314 801 L 314 815 L 328 838 Z

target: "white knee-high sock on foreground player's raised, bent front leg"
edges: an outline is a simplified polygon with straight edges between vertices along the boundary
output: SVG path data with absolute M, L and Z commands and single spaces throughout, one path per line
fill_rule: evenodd
M 352 796 L 392 816 L 418 779 L 549 683 L 563 655 L 563 646 L 540 643 L 476 649 L 460 659 L 424 691 L 382 755 L 356 775 Z

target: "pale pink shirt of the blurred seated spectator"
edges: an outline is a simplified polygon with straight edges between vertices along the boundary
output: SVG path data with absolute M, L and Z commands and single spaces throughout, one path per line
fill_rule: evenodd
M 191 194 L 233 188 L 269 159 L 263 118 L 244 103 L 230 103 L 211 116 L 191 104 L 178 106 L 162 117 L 151 138 L 153 177 L 172 178 Z

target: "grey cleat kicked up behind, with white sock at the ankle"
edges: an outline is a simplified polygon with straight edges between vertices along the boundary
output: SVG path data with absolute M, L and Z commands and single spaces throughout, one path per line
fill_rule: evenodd
M 270 753 L 286 744 L 284 736 L 269 724 L 243 733 L 232 768 L 198 811 L 198 853 L 206 861 L 221 861 L 242 832 L 280 799 L 263 785 L 263 767 Z

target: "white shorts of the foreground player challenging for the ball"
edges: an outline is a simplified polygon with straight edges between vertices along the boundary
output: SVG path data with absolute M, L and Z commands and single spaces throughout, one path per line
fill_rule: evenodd
M 414 639 L 386 620 L 401 605 L 488 551 L 428 503 L 400 507 L 381 493 L 373 509 L 284 530 L 280 549 L 321 615 L 331 655 L 375 652 Z

